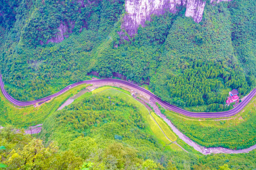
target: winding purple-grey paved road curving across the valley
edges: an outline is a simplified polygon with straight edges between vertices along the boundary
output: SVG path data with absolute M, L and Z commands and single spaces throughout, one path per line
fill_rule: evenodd
M 251 91 L 245 100 L 243 100 L 241 103 L 238 104 L 238 106 L 236 106 L 234 109 L 232 110 L 228 110 L 228 111 L 221 111 L 221 112 L 191 112 L 191 111 L 187 111 L 187 110 L 183 110 L 181 108 L 178 108 L 174 105 L 171 105 L 167 102 L 162 101 L 160 98 L 158 98 L 155 94 L 151 93 L 150 91 L 138 86 L 138 85 L 134 85 L 132 83 L 129 83 L 127 81 L 124 80 L 119 80 L 119 79 L 94 79 L 94 80 L 85 80 L 85 81 L 80 81 L 77 83 L 74 83 L 72 85 L 68 85 L 66 86 L 64 89 L 62 89 L 61 91 L 49 95 L 47 97 L 41 98 L 41 99 L 37 99 L 34 101 L 29 101 L 29 102 L 20 102 L 16 99 L 14 99 L 13 97 L 11 97 L 4 89 L 4 83 L 2 81 L 2 75 L 0 75 L 0 87 L 1 87 L 1 91 L 3 93 L 3 95 L 9 100 L 9 102 L 12 102 L 14 105 L 17 106 L 29 106 L 29 105 L 33 105 L 36 104 L 38 102 L 46 102 L 50 99 L 52 99 L 53 97 L 56 97 L 64 92 L 66 92 L 67 90 L 69 90 L 70 88 L 73 88 L 74 86 L 77 85 L 82 85 L 82 84 L 91 84 L 91 83 L 118 83 L 118 84 L 124 84 L 124 85 L 128 85 L 131 86 L 133 88 L 136 88 L 137 90 L 140 90 L 146 94 L 148 94 L 150 97 L 152 97 L 156 102 L 158 102 L 159 104 L 161 104 L 162 106 L 166 107 L 169 110 L 173 110 L 177 113 L 183 114 L 185 116 L 188 117 L 195 117 L 195 118 L 223 118 L 223 117 L 230 117 L 233 115 L 236 115 L 239 111 L 241 111 L 247 104 L 248 102 L 250 102 L 253 97 L 256 95 L 256 89 L 254 89 L 253 91 Z

